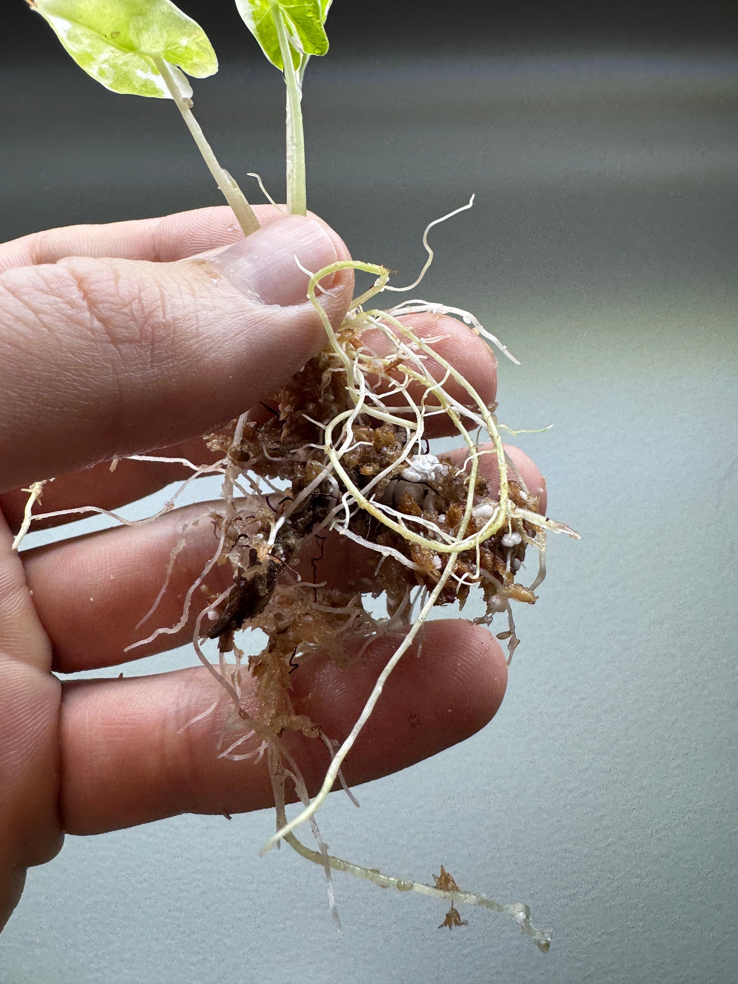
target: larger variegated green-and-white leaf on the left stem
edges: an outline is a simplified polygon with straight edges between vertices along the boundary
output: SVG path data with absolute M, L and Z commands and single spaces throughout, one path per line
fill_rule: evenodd
M 196 79 L 217 71 L 205 31 L 170 0 L 28 2 L 48 21 L 80 68 L 113 92 L 170 98 L 152 55 Z M 186 80 L 176 70 L 174 74 L 187 94 Z

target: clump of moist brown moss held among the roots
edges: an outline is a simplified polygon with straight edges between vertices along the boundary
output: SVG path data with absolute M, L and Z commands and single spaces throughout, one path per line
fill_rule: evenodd
M 326 530 L 348 493 L 339 477 L 321 476 L 325 472 L 325 428 L 352 408 L 345 370 L 334 352 L 325 351 L 252 411 L 237 443 L 233 443 L 235 421 L 209 436 L 210 447 L 229 456 L 241 472 L 289 482 L 287 492 L 273 494 L 261 508 L 255 509 L 249 500 L 245 509 L 215 517 L 216 531 L 225 533 L 223 557 L 233 568 L 233 589 L 208 632 L 209 638 L 219 640 L 221 652 L 232 650 L 234 633 L 247 625 L 266 633 L 269 644 L 249 658 L 249 668 L 257 682 L 261 722 L 277 734 L 287 728 L 318 736 L 318 726 L 294 714 L 289 703 L 290 676 L 305 657 L 320 650 L 345 661 L 346 643 L 372 640 L 388 624 L 380 624 L 365 610 L 360 594 L 315 581 L 305 586 L 290 573 L 301 548 Z M 347 450 L 342 463 L 353 483 L 365 486 L 382 475 L 373 486 L 373 499 L 394 510 L 408 529 L 423 534 L 431 531 L 439 540 L 442 534 L 447 540 L 459 535 L 469 494 L 467 468 L 444 458 L 428 465 L 427 460 L 432 459 L 428 455 L 415 456 L 420 464 L 408 466 L 406 457 L 399 461 L 406 450 L 405 429 L 361 414 L 350 425 L 344 443 Z M 522 509 L 537 506 L 521 480 L 511 478 L 509 488 L 514 504 Z M 485 502 L 488 491 L 485 479 L 477 476 L 475 501 Z M 466 533 L 478 532 L 488 512 L 484 507 L 472 512 Z M 280 519 L 283 523 L 267 549 L 270 532 Z M 488 621 L 506 610 L 511 599 L 535 601 L 531 590 L 516 583 L 516 575 L 526 544 L 534 540 L 537 530 L 523 520 L 509 525 L 456 556 L 452 577 L 437 605 L 459 602 L 462 607 L 474 585 L 479 586 L 486 603 L 486 615 L 478 621 Z M 378 550 L 373 586 L 367 594 L 384 595 L 393 624 L 407 625 L 410 593 L 415 588 L 421 593 L 433 591 L 445 556 L 432 546 L 408 540 L 363 509 L 352 511 L 345 528 Z

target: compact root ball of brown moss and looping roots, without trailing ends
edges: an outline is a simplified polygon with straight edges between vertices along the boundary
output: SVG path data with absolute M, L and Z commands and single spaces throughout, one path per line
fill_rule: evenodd
M 370 269 L 378 275 L 377 292 L 387 275 Z M 429 607 L 463 607 L 472 588 L 485 603 L 477 622 L 508 614 L 501 637 L 512 656 L 518 639 L 511 601 L 536 599 L 532 586 L 517 581 L 525 551 L 532 547 L 542 559 L 551 525 L 537 515 L 537 500 L 502 450 L 496 407 L 483 403 L 393 311 L 356 305 L 334 333 L 315 293 L 325 274 L 313 277 L 310 293 L 326 325 L 324 350 L 270 399 L 208 436 L 211 449 L 228 462 L 223 508 L 214 519 L 217 562 L 230 564 L 233 584 L 213 606 L 206 635 L 218 640 L 227 675 L 223 655 L 237 650 L 235 633 L 257 628 L 266 634 L 268 645 L 248 667 L 257 682 L 258 729 L 268 742 L 290 729 L 321 736 L 320 722 L 306 721 L 291 706 L 290 677 L 301 662 L 320 651 L 345 663 L 346 651 L 360 656 L 380 635 L 416 631 Z M 464 320 L 478 326 L 470 315 Z M 438 374 L 439 366 L 440 380 L 429 368 Z M 450 396 L 449 381 L 463 402 Z M 461 465 L 431 453 L 425 431 L 438 414 L 451 418 L 466 445 Z M 494 499 L 480 468 L 481 455 L 490 451 L 481 451 L 472 429 L 492 440 L 499 471 Z M 241 483 L 260 491 L 275 480 L 288 487 L 266 499 L 233 494 Z M 312 580 L 297 573 L 305 544 L 315 555 L 330 531 L 373 557 L 365 591 L 320 581 L 315 560 Z M 369 597 L 382 598 L 386 617 L 372 614 L 376 603 L 367 610 Z M 237 675 L 234 690 L 240 689 Z

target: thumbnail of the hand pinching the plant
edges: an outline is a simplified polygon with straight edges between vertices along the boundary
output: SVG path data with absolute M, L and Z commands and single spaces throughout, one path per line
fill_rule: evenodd
M 229 246 L 211 261 L 237 287 L 262 304 L 302 304 L 310 277 L 336 263 L 338 254 L 326 230 L 304 215 L 286 215 Z M 333 275 L 321 281 L 330 289 Z

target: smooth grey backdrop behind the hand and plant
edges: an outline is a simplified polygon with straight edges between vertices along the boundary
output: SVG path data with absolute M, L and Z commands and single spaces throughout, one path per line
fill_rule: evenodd
M 440 933 L 442 904 L 339 875 L 338 935 L 317 869 L 257 856 L 262 812 L 68 837 L 0 938 L 2 984 L 735 979 L 738 59 L 467 33 L 431 54 L 338 34 L 305 89 L 309 204 L 409 279 L 425 224 L 476 193 L 434 230 L 423 296 L 521 358 L 501 418 L 555 424 L 518 443 L 583 539 L 551 542 L 494 722 L 360 811 L 334 796 L 322 827 L 360 863 L 528 902 L 551 951 L 479 909 Z M 282 92 L 244 45 L 196 108 L 280 196 Z M 0 68 L 3 239 L 218 202 L 171 105 L 24 57 Z

